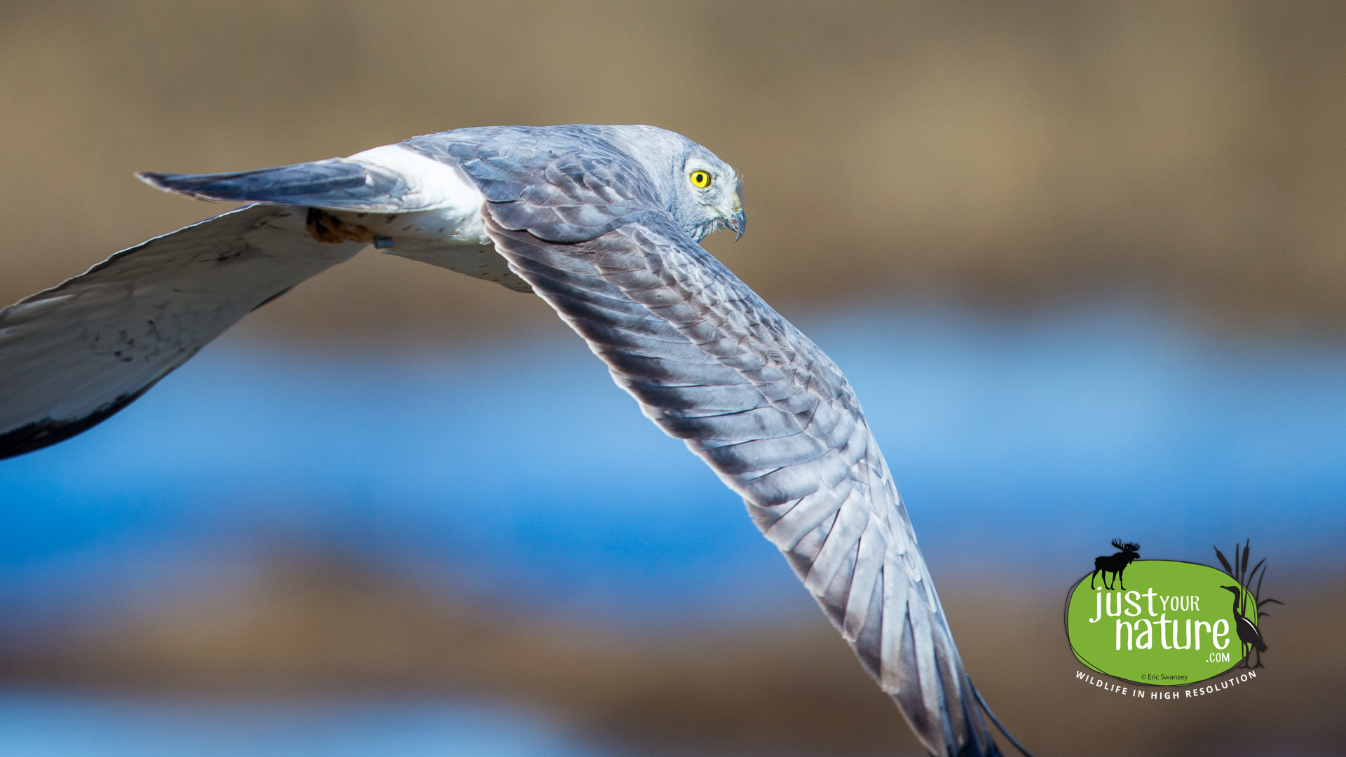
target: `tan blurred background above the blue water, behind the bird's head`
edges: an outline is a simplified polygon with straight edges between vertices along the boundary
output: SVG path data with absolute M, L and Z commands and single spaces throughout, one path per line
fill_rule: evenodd
M 1136 291 L 1346 323 L 1339 3 L 23 3 L 0 8 L 0 299 L 215 209 L 135 170 L 455 127 L 649 123 L 746 175 L 712 251 L 790 308 Z M 458 338 L 536 300 L 366 253 L 253 327 Z

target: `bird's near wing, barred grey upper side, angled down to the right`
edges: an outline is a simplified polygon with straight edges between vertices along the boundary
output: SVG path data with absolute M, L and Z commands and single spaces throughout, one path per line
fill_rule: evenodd
M 487 230 L 511 269 L 646 416 L 743 496 L 926 749 L 997 754 L 906 508 L 837 366 L 670 222 L 650 214 L 559 244 L 526 230 L 528 205 L 487 203 Z

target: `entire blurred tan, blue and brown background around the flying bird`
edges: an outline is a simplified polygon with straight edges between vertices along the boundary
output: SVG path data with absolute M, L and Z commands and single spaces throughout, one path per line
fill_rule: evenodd
M 1341 754 L 1346 8 L 0 4 L 0 299 L 201 220 L 136 170 L 646 123 L 847 370 L 964 659 L 1042 754 Z M 544 303 L 374 251 L 0 462 L 0 753 L 915 754 L 742 505 Z M 1088 690 L 1137 540 L 1271 566 L 1267 669 Z

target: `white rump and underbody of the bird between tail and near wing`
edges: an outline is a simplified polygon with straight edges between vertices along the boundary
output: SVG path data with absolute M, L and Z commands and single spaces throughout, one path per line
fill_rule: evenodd
M 357 152 L 350 159 L 398 171 L 412 189 L 402 198 L 405 210 L 397 213 L 330 211 L 342 221 L 390 237 L 393 246 L 381 248 L 381 252 L 495 282 L 518 292 L 533 291 L 495 252 L 482 218 L 486 198 L 460 171 L 397 144 Z

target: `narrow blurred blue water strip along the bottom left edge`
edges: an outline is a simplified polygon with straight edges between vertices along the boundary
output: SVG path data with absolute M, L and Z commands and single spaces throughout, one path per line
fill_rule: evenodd
M 5 757 L 579 757 L 537 718 L 479 703 L 227 702 L 0 691 Z

